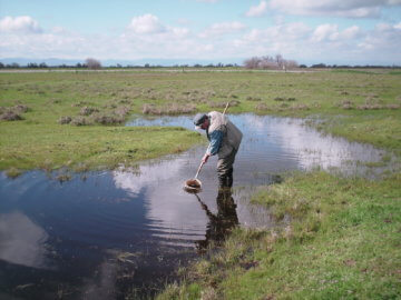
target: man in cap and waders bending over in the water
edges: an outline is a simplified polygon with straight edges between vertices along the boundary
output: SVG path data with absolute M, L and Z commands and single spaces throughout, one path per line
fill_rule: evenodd
M 196 128 L 206 130 L 209 146 L 202 161 L 207 162 L 208 158 L 217 154 L 217 176 L 222 188 L 233 186 L 233 163 L 242 140 L 242 132 L 226 116 L 212 111 L 207 114 L 197 113 L 194 118 Z

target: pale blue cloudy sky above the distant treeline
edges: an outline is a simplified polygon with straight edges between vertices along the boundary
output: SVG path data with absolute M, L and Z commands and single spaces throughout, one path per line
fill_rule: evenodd
M 401 0 L 0 0 L 0 59 L 401 64 Z

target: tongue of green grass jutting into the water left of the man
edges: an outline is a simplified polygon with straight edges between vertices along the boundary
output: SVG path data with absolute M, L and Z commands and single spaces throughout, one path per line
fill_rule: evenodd
M 183 128 L 3 124 L 0 169 L 76 171 L 133 167 L 139 160 L 178 153 L 200 137 Z

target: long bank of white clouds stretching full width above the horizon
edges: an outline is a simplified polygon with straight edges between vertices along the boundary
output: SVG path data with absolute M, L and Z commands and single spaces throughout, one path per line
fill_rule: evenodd
M 284 58 L 307 64 L 311 62 L 385 63 L 385 61 L 401 63 L 399 21 L 379 23 L 370 30 L 358 26 L 342 29 L 336 23 L 312 28 L 303 22 L 285 23 L 283 20 L 263 29 L 253 29 L 233 21 L 215 23 L 198 32 L 186 27 L 164 24 L 157 17 L 149 16 L 134 18 L 135 26 L 133 27 L 130 22 L 119 36 L 82 34 L 60 27 L 42 30 L 36 34 L 29 30 L 2 30 L 0 52 L 2 58 L 94 57 L 99 60 L 186 58 L 215 61 L 224 58 L 243 60 L 253 56 L 281 53 Z M 12 20 L 18 18 L 14 17 Z

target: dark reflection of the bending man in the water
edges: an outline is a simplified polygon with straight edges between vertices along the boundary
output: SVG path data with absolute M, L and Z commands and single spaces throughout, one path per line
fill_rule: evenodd
M 213 214 L 207 206 L 196 194 L 203 210 L 209 219 L 206 229 L 206 239 L 196 241 L 196 247 L 199 251 L 205 251 L 211 241 L 217 244 L 222 242 L 229 231 L 238 224 L 238 217 L 236 214 L 236 204 L 232 197 L 231 189 L 219 189 L 217 194 L 217 214 Z

